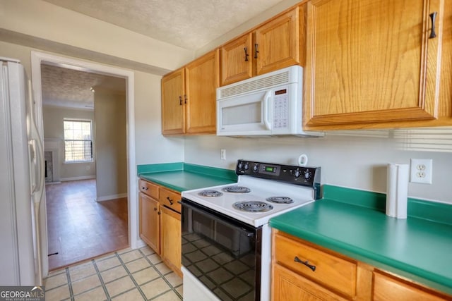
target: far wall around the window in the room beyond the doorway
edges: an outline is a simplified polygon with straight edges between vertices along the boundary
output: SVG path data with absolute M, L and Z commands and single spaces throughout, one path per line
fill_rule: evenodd
M 67 109 L 59 106 L 43 106 L 45 147 L 58 149 L 58 173 L 54 181 L 76 180 L 78 178 L 94 178 L 96 173 L 94 162 L 64 163 L 64 125 L 65 118 L 78 118 L 93 122 L 94 113 L 88 110 Z M 45 149 L 45 150 L 51 150 Z

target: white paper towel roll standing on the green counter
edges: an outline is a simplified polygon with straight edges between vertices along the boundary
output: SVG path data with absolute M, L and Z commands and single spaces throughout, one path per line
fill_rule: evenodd
M 388 164 L 386 215 L 407 218 L 409 164 Z

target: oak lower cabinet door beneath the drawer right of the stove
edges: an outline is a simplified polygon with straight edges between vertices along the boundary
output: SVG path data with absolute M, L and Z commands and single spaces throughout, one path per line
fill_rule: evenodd
M 345 300 L 279 264 L 273 265 L 272 279 L 272 300 L 275 301 Z

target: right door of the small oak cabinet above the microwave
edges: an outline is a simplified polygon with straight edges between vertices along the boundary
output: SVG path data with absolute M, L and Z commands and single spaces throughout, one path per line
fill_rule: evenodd
M 256 30 L 256 73 L 261 75 L 299 63 L 299 8 L 270 20 Z

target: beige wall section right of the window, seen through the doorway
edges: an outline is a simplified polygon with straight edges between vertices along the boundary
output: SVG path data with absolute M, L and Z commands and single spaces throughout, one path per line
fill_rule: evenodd
M 127 193 L 126 94 L 94 89 L 97 200 L 117 199 Z

